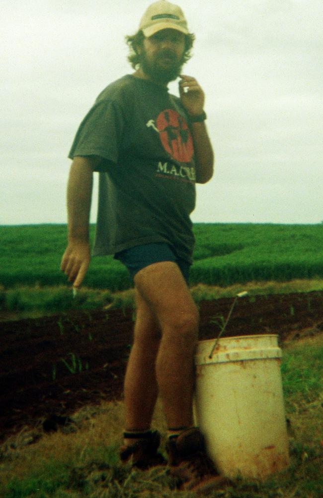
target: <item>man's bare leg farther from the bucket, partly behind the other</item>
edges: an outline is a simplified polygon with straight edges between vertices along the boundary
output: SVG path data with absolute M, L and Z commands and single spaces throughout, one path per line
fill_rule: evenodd
M 156 358 L 161 331 L 154 313 L 135 290 L 136 323 L 134 343 L 124 383 L 126 430 L 150 429 L 158 395 Z

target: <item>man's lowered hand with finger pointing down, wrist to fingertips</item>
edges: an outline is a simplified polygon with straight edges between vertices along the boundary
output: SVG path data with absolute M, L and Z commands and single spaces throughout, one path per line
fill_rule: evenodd
M 61 270 L 68 276 L 73 287 L 80 287 L 90 262 L 90 247 L 87 242 L 73 241 L 66 248 Z

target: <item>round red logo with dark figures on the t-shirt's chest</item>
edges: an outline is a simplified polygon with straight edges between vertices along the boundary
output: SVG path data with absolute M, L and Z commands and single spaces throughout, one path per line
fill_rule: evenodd
M 162 111 L 156 120 L 163 148 L 173 159 L 190 162 L 193 155 L 193 139 L 184 118 L 173 109 Z

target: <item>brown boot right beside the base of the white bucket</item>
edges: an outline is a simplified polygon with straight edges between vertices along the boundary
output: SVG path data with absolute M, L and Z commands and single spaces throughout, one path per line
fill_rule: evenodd
M 198 428 L 187 429 L 166 443 L 170 475 L 178 481 L 178 489 L 206 494 L 221 489 L 230 481 L 220 476 L 206 453 L 204 436 Z

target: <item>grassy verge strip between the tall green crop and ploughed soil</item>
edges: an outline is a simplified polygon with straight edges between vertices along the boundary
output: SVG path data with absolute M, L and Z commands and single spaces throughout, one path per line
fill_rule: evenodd
M 247 282 L 228 287 L 197 284 L 191 287 L 196 302 L 221 297 L 236 296 L 242 290 L 248 291 L 250 299 L 260 294 L 280 294 L 292 292 L 311 292 L 323 290 L 323 279 L 291 280 L 289 282 Z M 17 286 L 5 289 L 0 287 L 0 312 L 2 319 L 39 317 L 55 312 L 72 309 L 95 308 L 132 308 L 134 304 L 133 289 L 111 292 L 110 290 L 82 287 L 73 297 L 72 288 L 60 286 Z M 311 310 L 309 300 L 309 311 Z M 288 310 L 290 314 L 293 310 Z

